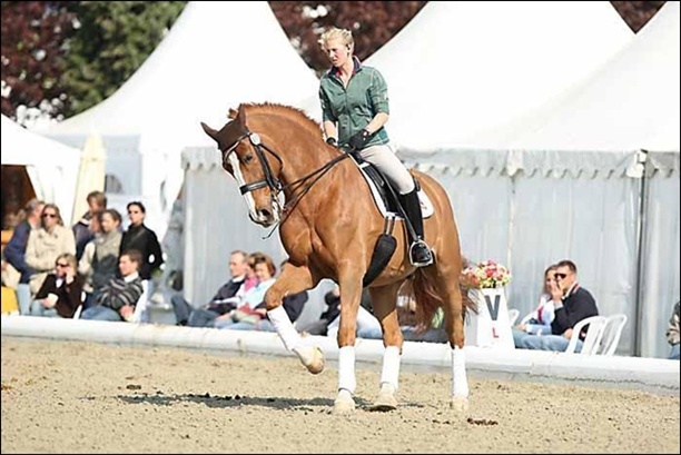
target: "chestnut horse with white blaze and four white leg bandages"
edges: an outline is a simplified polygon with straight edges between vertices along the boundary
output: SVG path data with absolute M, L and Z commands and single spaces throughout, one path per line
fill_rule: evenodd
M 201 122 L 223 155 L 223 167 L 237 180 L 253 221 L 278 225 L 288 263 L 265 296 L 267 315 L 288 350 L 307 369 L 324 369 L 324 354 L 309 346 L 293 327 L 282 299 L 287 294 L 312 289 L 323 278 L 336 281 L 340 293 L 338 329 L 338 394 L 334 414 L 355 409 L 355 329 L 374 245 L 384 229 L 364 177 L 352 159 L 327 145 L 319 126 L 304 112 L 279 105 L 241 105 L 230 110 L 230 121 L 220 130 Z M 402 284 L 413 279 L 416 315 L 428 326 L 443 307 L 445 329 L 452 347 L 452 400 L 457 411 L 468 405 L 464 357 L 465 306 L 458 287 L 462 267 L 458 231 L 450 199 L 432 177 L 412 170 L 434 206 L 424 220 L 425 238 L 435 261 L 414 268 L 407 257 L 404 221 L 395 226 L 397 248 L 381 275 L 369 284 L 374 314 L 381 322 L 385 352 L 375 408 L 394 409 L 403 337 L 396 313 Z M 284 195 L 284 206 L 280 195 Z

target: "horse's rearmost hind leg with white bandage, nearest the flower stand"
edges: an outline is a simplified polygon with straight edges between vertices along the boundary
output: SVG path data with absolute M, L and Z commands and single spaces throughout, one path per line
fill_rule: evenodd
M 437 273 L 433 274 L 437 288 L 444 299 L 445 330 L 452 347 L 452 402 L 455 411 L 468 408 L 468 379 L 464 355 L 464 306 L 458 287 L 458 270 L 440 261 Z

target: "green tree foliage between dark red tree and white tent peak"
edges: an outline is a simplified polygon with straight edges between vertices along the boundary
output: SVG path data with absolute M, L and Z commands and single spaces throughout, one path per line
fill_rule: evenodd
M 111 96 L 144 63 L 177 19 L 185 1 L 81 1 L 68 41 L 61 86 L 69 117 Z

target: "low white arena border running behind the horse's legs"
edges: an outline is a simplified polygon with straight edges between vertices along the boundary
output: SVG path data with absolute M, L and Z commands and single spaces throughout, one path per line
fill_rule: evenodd
M 7 316 L 1 318 L 2 336 L 111 343 L 134 346 L 165 346 L 213 352 L 293 356 L 274 333 L 217 330 L 155 324 L 122 324 Z M 319 346 L 327 360 L 338 358 L 335 338 L 308 336 L 306 343 Z M 383 342 L 358 338 L 356 359 L 379 364 Z M 680 387 L 678 360 L 648 357 L 582 356 L 523 349 L 491 349 L 466 346 L 470 372 L 490 373 L 511 378 L 560 380 L 578 384 L 605 384 L 624 388 L 675 393 Z M 406 342 L 402 363 L 431 370 L 451 369 L 447 344 Z

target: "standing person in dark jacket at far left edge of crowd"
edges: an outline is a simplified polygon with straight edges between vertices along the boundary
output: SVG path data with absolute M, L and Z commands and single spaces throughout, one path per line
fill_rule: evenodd
M 17 289 L 17 301 L 21 315 L 30 313 L 32 298 L 29 281 L 36 273 L 26 263 L 26 249 L 31 231 L 40 227 L 40 216 L 43 208 L 45 202 L 42 200 L 31 199 L 28 201 L 26 219 L 17 226 L 3 251 L 7 261 L 6 268 L 2 270 L 3 283 L 6 286 Z M 11 276 L 11 279 L 6 278 L 7 275 Z

